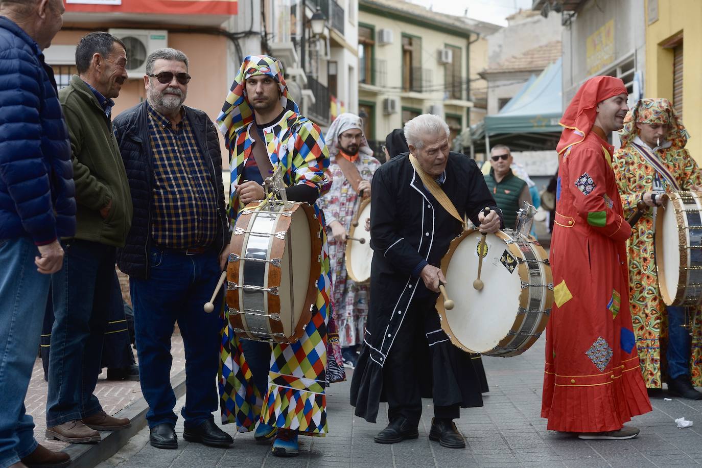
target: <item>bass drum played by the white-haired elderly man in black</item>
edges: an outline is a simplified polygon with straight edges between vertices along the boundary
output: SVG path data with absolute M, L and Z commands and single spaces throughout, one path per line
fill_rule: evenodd
M 509 233 L 509 234 L 508 234 Z M 531 236 L 511 230 L 487 234 L 486 250 L 477 229 L 451 242 L 442 260 L 446 294 L 455 303 L 437 311 L 453 345 L 488 356 L 517 356 L 541 336 L 553 305 L 553 276 L 543 247 Z M 473 287 L 483 255 L 482 290 Z

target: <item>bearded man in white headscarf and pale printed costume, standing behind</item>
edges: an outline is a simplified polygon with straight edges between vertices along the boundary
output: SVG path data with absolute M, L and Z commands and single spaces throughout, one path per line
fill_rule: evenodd
M 329 147 L 329 172 L 333 183 L 329 193 L 319 199 L 327 226 L 333 239 L 329 240 L 332 284 L 336 323 L 344 361 L 354 367 L 356 350 L 362 344 L 368 316 L 369 290 L 367 285 L 356 284 L 346 271 L 346 236 L 356 215 L 358 197 L 371 196 L 371 178 L 380 163 L 373 157 L 363 134 L 361 118 L 355 114 L 340 114 L 326 133 Z M 365 223 L 365 220 L 359 220 Z

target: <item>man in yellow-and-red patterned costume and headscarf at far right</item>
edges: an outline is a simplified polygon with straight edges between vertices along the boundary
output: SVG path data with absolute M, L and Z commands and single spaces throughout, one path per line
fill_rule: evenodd
M 665 192 L 702 185 L 702 171 L 685 149 L 689 135 L 667 99 L 640 100 L 627 114 L 619 133 L 621 148 L 614 154 L 614 174 L 625 215 L 635 212 L 640 200 L 649 207 L 658 206 Z M 696 326 L 690 337 L 684 328 L 684 307 L 666 307 L 658 288 L 654 210 L 648 208 L 633 228 L 627 243 L 629 300 L 646 387 L 649 394 L 655 394 L 663 377 L 668 377 L 670 392 L 702 399 L 702 393 L 693 387 L 693 383 L 702 385 L 702 309 L 689 307 L 687 311 L 691 318 L 697 316 L 691 320 Z M 661 352 L 661 341 L 665 341 L 665 353 Z M 661 375 L 661 358 L 667 363 L 667 375 Z

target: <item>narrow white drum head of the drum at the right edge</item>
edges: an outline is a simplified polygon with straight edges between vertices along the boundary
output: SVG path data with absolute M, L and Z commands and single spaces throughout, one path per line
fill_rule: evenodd
M 680 283 L 680 241 L 673 201 L 666 199 L 656 213 L 656 265 L 663 301 L 675 300 Z

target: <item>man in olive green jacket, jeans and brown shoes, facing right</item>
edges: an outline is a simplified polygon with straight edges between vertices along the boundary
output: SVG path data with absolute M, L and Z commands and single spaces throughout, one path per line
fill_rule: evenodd
M 117 248 L 131 227 L 129 185 L 110 114 L 127 79 L 124 44 L 105 32 L 84 36 L 76 68 L 59 101 L 71 140 L 77 229 L 62 239 L 63 267 L 51 281 L 55 322 L 48 370 L 46 437 L 100 441 L 98 430 L 128 427 L 107 415 L 93 395 L 100 372 L 107 314 L 119 295 Z M 96 430 L 97 429 L 97 430 Z

